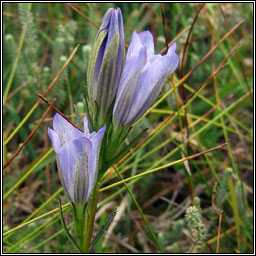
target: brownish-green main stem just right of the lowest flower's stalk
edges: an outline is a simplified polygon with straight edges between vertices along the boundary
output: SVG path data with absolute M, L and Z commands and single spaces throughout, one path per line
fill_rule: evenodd
M 85 241 L 84 241 L 84 248 L 83 248 L 83 252 L 85 252 L 85 253 L 89 252 L 92 231 L 93 231 L 94 218 L 95 218 L 95 213 L 96 213 L 96 208 L 97 208 L 99 188 L 100 188 L 100 182 L 97 181 L 97 183 L 93 189 L 91 205 L 90 205 L 90 212 L 89 212 L 88 222 L 87 222 L 87 226 L 86 226 Z

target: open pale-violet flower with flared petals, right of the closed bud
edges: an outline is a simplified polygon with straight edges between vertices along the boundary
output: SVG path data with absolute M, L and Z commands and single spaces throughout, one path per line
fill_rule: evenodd
M 130 127 L 155 102 L 166 79 L 178 66 L 175 50 L 174 43 L 165 56 L 155 55 L 151 33 L 133 32 L 114 105 L 115 125 Z

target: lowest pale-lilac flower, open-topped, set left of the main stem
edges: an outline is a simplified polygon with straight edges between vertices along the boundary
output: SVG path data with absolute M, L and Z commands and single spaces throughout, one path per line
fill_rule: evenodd
M 48 128 L 57 155 L 62 186 L 71 202 L 85 203 L 93 190 L 98 174 L 101 140 L 106 126 L 90 133 L 84 116 L 84 132 L 72 126 L 59 114 L 53 118 L 53 129 Z

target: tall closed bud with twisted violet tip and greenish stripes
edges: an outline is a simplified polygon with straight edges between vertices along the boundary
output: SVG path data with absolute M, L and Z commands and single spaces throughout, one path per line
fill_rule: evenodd
M 97 128 L 103 126 L 113 107 L 124 59 L 122 13 L 119 8 L 110 8 L 102 19 L 87 73 L 89 102 Z

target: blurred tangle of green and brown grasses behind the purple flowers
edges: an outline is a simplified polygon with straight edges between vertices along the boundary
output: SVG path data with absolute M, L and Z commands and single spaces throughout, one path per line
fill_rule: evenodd
M 150 30 L 157 53 L 164 54 L 166 40 L 175 40 L 180 57 L 159 100 L 128 138 L 148 127 L 143 141 L 116 164 L 124 178 L 156 168 L 127 184 L 160 247 L 168 253 L 251 253 L 250 3 L 164 3 L 162 12 L 158 3 L 4 3 L 3 250 L 74 252 L 59 222 L 58 197 L 63 204 L 67 198 L 47 135 L 55 111 L 48 113 L 38 94 L 55 79 L 45 97 L 50 102 L 56 98 L 54 105 L 73 122 L 73 104 L 79 102 L 83 115 L 88 57 L 109 7 L 122 10 L 126 44 L 133 30 Z M 119 208 L 95 252 L 157 252 L 134 200 L 118 181 L 110 169 L 101 186 L 95 230 Z M 68 204 L 63 211 L 73 232 Z

